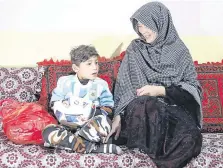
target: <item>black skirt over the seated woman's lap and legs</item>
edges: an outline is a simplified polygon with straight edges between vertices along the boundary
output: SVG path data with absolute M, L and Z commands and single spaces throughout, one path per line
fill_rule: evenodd
M 142 96 L 126 110 L 121 136 L 127 147 L 144 151 L 159 167 L 182 167 L 200 153 L 201 133 L 185 109 Z

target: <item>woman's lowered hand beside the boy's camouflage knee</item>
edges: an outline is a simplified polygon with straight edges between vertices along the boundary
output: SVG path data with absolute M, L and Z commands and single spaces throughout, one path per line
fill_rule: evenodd
M 103 143 L 107 143 L 110 136 L 112 136 L 114 133 L 116 133 L 115 140 L 117 140 L 120 132 L 121 132 L 121 116 L 117 115 L 112 120 L 112 129 L 111 129 L 110 133 L 108 134 L 108 136 L 106 137 L 106 139 L 103 141 Z

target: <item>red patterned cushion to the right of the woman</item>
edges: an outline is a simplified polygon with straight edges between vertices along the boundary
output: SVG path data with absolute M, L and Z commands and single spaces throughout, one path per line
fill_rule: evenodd
M 203 89 L 203 132 L 223 132 L 223 62 L 195 62 Z

